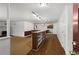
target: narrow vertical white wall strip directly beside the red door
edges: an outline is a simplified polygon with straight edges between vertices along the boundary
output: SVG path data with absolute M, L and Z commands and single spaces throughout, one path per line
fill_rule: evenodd
M 73 51 L 73 4 L 68 6 L 68 40 L 67 40 L 67 51 Z

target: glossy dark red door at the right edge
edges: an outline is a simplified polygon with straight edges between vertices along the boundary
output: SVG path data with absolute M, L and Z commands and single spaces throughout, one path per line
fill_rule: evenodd
M 73 50 L 79 52 L 79 8 L 73 5 Z

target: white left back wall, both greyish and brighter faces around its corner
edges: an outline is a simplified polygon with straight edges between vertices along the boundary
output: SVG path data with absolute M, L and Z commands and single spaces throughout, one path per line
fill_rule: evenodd
M 24 36 L 24 31 L 34 29 L 34 24 L 27 21 L 11 21 L 11 35 Z

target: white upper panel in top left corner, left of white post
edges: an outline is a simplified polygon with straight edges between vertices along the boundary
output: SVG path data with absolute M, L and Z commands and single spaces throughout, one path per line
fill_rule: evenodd
M 6 20 L 7 19 L 7 9 L 8 4 L 7 3 L 0 3 L 0 20 Z

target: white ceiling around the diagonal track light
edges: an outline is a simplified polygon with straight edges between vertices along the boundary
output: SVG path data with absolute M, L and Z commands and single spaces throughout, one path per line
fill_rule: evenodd
M 47 7 L 40 7 L 40 3 L 13 3 L 10 4 L 10 17 L 11 20 L 22 20 L 32 22 L 56 22 L 65 4 L 61 3 L 48 3 Z M 32 11 L 38 13 L 43 20 L 37 20 Z

